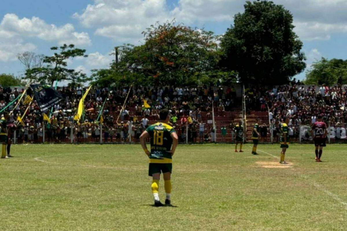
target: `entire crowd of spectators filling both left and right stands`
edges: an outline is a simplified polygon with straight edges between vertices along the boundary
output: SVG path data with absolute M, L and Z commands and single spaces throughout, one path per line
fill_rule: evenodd
M 57 90 L 64 100 L 46 112 L 50 123 L 43 121 L 35 100 L 26 115 L 24 98 L 18 105 L 15 102 L 6 108 L 6 112 L 12 112 L 9 130 L 12 133 L 16 131 L 17 143 L 42 142 L 43 133 L 47 142 L 71 142 L 71 136 L 74 137 L 73 142 L 99 142 L 101 131 L 96 119 L 103 105 L 102 136 L 105 142 L 138 141 L 149 123 L 159 119 L 162 108 L 170 110 L 172 126 L 176 128 L 181 142 L 187 139 L 187 135 L 189 142 L 214 141 L 215 131 L 207 123 L 212 118 L 212 103 L 215 116 L 224 116 L 225 112 L 240 107 L 241 101 L 233 87 L 134 87 L 129 94 L 128 88 L 93 87 L 84 101 L 83 117 L 77 123 L 74 115 L 86 88 L 58 87 Z M 23 91 L 21 87 L 0 87 L 0 110 Z M 127 103 L 122 109 L 126 98 Z M 150 107 L 146 107 L 144 102 Z M 271 88 L 255 86 L 246 89 L 245 102 L 248 112 L 269 112 L 271 125 L 261 124 L 261 134 L 262 137 L 269 137 L 272 130 L 275 141 L 280 133 L 278 124 L 285 117 L 290 118 L 289 136 L 294 140 L 299 137 L 299 127 L 311 125 L 319 114 L 330 126 L 345 127 L 347 123 L 347 86 L 303 86 L 295 83 Z M 23 117 L 23 124 L 17 122 L 18 116 Z M 188 132 L 186 126 L 182 126 L 187 123 Z M 233 133 L 233 127 L 230 124 L 222 132 Z

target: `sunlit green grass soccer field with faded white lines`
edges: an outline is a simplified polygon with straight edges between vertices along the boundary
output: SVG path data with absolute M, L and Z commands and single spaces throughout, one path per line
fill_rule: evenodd
M 0 230 L 347 230 L 347 145 L 179 145 L 172 204 L 153 207 L 140 145 L 14 145 Z M 159 185 L 164 199 L 163 180 Z

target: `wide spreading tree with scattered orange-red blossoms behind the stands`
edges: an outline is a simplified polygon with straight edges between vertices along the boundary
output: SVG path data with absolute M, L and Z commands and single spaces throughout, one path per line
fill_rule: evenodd
M 120 47 L 120 62 L 113 63 L 108 71 L 94 73 L 99 83 L 196 85 L 215 82 L 221 75 L 216 70 L 220 55 L 212 32 L 164 23 L 151 25 L 143 34 L 143 45 Z M 235 78 L 235 74 L 229 77 Z

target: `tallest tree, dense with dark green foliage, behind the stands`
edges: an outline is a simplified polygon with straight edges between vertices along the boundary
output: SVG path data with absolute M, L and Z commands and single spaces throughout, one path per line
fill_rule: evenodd
M 247 1 L 244 7 L 221 38 L 221 66 L 237 71 L 245 83 L 288 83 L 306 67 L 293 16 L 271 1 Z

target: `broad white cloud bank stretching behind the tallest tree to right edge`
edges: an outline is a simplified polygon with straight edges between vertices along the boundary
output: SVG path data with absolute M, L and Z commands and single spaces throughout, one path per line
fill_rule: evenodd
M 303 40 L 327 40 L 331 34 L 347 32 L 346 0 L 273 0 L 294 16 L 295 31 Z M 82 14 L 82 25 L 95 28 L 95 34 L 137 42 L 146 27 L 176 18 L 179 22 L 232 22 L 244 10 L 243 0 L 179 0 L 169 10 L 167 0 L 94 0 Z

